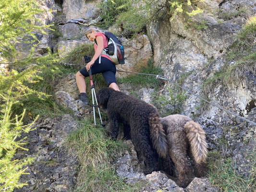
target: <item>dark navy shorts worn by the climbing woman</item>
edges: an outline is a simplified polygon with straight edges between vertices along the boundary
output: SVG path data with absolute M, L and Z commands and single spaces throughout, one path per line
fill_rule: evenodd
M 91 67 L 92 74 L 102 73 L 103 78 L 108 86 L 110 86 L 111 83 L 116 83 L 115 64 L 105 57 L 101 57 L 101 63 L 98 63 L 98 60 L 99 59 L 97 59 Z M 86 71 L 85 67 L 79 70 L 79 72 L 85 77 L 89 76 L 89 73 Z

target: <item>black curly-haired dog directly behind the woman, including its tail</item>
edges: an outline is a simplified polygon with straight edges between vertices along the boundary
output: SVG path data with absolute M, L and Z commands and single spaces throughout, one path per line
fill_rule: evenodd
M 157 170 L 158 155 L 165 157 L 168 149 L 158 110 L 109 87 L 100 89 L 98 97 L 99 104 L 108 111 L 111 139 L 117 138 L 119 123 L 123 123 L 124 133 L 131 136 L 138 159 L 144 160 L 143 172 L 148 174 Z

